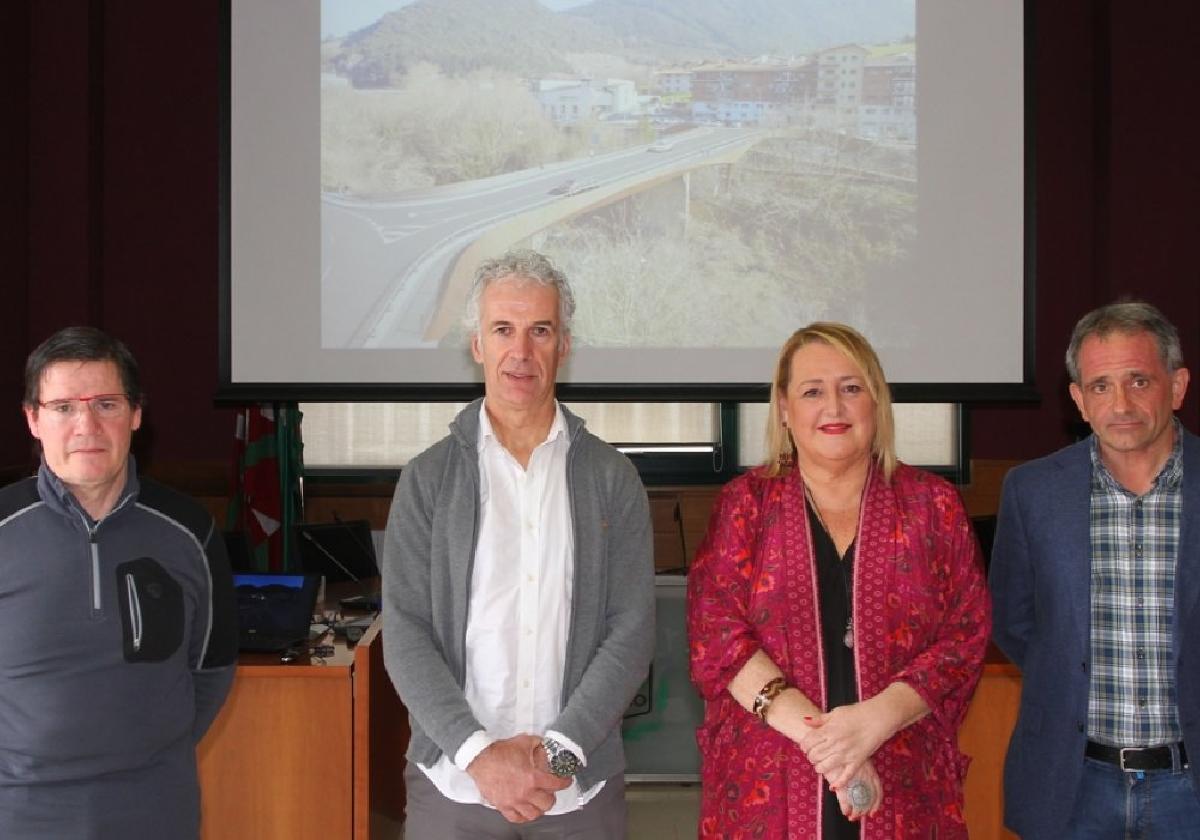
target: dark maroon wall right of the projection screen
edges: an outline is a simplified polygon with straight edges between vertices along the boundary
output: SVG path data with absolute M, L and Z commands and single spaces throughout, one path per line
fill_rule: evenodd
M 1074 439 L 1063 353 L 1122 295 L 1162 307 L 1200 376 L 1195 4 L 1036 4 L 1037 406 L 974 407 L 971 454 L 1031 458 Z M 1200 428 L 1200 382 L 1181 418 Z

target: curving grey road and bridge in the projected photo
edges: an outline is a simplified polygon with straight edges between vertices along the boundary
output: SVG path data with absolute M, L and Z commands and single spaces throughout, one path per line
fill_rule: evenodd
M 706 127 L 670 142 L 394 199 L 322 199 L 322 313 L 326 347 L 436 346 L 451 263 L 481 234 L 532 216 L 546 227 L 689 169 L 728 162 L 752 128 Z M 454 301 L 461 307 L 464 289 Z

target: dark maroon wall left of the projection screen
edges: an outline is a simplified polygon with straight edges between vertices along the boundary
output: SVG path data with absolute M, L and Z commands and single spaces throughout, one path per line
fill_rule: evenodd
M 150 400 L 136 436 L 143 461 L 229 456 L 233 418 L 212 406 L 218 6 L 6 4 L 16 49 L 0 50 L 5 112 L 17 119 L 0 132 L 0 166 L 19 197 L 0 198 L 0 467 L 29 460 L 24 356 L 72 323 L 138 356 Z

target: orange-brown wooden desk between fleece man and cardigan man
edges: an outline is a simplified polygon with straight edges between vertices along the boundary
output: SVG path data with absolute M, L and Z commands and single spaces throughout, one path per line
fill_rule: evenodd
M 244 654 L 198 750 L 205 840 L 367 840 L 403 818 L 408 714 L 384 671 L 380 622 L 324 664 Z

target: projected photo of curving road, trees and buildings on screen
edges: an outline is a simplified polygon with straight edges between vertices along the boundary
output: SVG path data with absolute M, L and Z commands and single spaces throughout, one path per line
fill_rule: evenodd
M 461 346 L 475 265 L 516 246 L 570 276 L 577 347 L 870 334 L 898 294 L 914 0 L 320 8 L 323 348 Z

